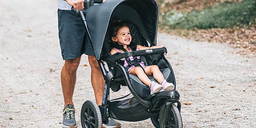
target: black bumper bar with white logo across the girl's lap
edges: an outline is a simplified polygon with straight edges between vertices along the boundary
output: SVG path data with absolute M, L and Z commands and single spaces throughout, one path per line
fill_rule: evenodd
M 157 49 L 145 49 L 145 50 L 119 53 L 117 55 L 112 55 L 109 59 L 111 61 L 117 61 L 121 58 L 125 58 L 128 56 L 143 56 L 143 55 L 154 55 L 154 54 L 165 54 L 165 53 L 167 53 L 166 47 L 161 47 Z

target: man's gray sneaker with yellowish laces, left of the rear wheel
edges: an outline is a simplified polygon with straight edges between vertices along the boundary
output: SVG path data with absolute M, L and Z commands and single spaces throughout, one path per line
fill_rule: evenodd
M 75 118 L 75 111 L 73 105 L 66 105 L 63 109 L 63 122 L 62 128 L 76 128 L 76 118 Z

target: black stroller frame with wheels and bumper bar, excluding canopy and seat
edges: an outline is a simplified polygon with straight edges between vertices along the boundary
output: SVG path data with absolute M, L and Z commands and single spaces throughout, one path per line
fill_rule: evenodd
M 125 0 L 121 0 L 125 1 Z M 156 3 L 156 1 L 154 1 Z M 93 47 L 93 41 L 91 39 L 88 27 L 87 27 L 87 22 L 85 18 L 85 11 L 88 9 L 90 6 L 93 6 L 93 0 L 85 0 L 84 1 L 84 10 L 76 10 L 72 8 L 72 11 L 75 12 L 75 15 L 77 17 L 80 17 L 85 28 L 86 35 L 89 39 L 90 44 Z M 139 51 L 131 51 L 131 52 L 125 52 L 121 53 L 119 55 L 115 55 L 113 58 L 109 58 L 108 55 L 106 54 L 101 54 L 100 59 L 97 59 L 99 67 L 102 71 L 103 78 L 105 79 L 105 85 L 104 85 L 104 93 L 102 97 L 102 105 L 98 106 L 96 105 L 95 102 L 92 102 L 90 100 L 84 102 L 84 105 L 82 106 L 81 110 L 81 122 L 82 122 L 82 127 L 83 128 L 101 128 L 102 123 L 108 123 L 108 111 L 111 109 L 109 108 L 110 106 L 110 100 L 109 100 L 109 94 L 110 94 L 110 88 L 112 84 L 116 84 L 119 82 L 125 81 L 125 84 L 128 86 L 128 89 L 131 91 L 132 95 L 137 99 L 137 101 L 143 105 L 145 108 L 147 108 L 147 119 L 148 117 L 151 118 L 151 121 L 153 122 L 154 126 L 156 128 L 182 128 L 182 119 L 180 116 L 180 109 L 181 109 L 181 104 L 178 101 L 179 100 L 179 93 L 176 90 L 176 83 L 175 83 L 175 76 L 172 70 L 171 65 L 167 61 L 167 59 L 164 57 L 164 54 L 167 52 L 167 49 L 165 47 L 163 48 L 158 48 L 158 49 L 151 49 L 152 52 L 148 53 L 145 50 L 139 50 Z M 94 49 L 93 49 L 94 51 Z M 161 54 L 161 59 L 165 64 L 168 65 L 169 69 L 171 70 L 172 73 L 172 79 L 173 79 L 173 84 L 175 85 L 175 89 L 173 91 L 163 91 L 160 93 L 154 93 L 149 95 L 146 98 L 141 98 L 134 88 L 131 85 L 131 82 L 129 80 L 129 76 L 126 73 L 125 68 L 117 62 L 117 60 L 128 57 L 130 55 L 132 56 L 143 56 L 143 55 L 156 55 L 156 54 Z M 109 70 L 106 70 L 105 65 L 102 63 L 102 61 L 107 62 L 109 66 Z M 122 73 L 122 77 L 117 77 L 115 78 L 115 72 L 116 70 L 120 70 Z M 119 85 L 120 86 L 120 85 Z M 124 96 L 125 97 L 125 96 Z M 118 98 L 122 99 L 124 97 Z M 154 104 L 152 104 L 154 103 Z M 175 105 L 175 103 L 177 105 Z M 87 112 L 86 112 L 87 111 Z M 170 112 L 171 111 L 171 112 Z M 100 113 L 99 113 L 100 112 Z M 93 119 L 94 122 L 92 122 L 92 118 L 90 118 L 90 114 L 93 113 Z M 172 116 L 172 120 L 174 120 L 174 124 L 171 124 L 169 119 L 169 114 L 165 113 L 170 113 Z M 88 115 L 89 114 L 89 115 Z M 82 117 L 82 116 L 87 116 L 87 117 Z M 176 117 L 177 116 L 177 117 Z M 173 119 L 174 118 L 174 119 Z M 140 121 L 143 119 L 135 119 L 135 120 L 126 120 L 126 121 Z M 92 125 L 93 124 L 93 125 Z

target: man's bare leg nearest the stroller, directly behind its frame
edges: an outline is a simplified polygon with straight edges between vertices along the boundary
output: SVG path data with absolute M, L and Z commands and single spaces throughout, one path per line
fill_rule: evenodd
M 99 68 L 99 64 L 94 55 L 88 55 L 88 60 L 91 67 L 91 82 L 94 90 L 94 95 L 97 105 L 102 105 L 102 96 L 104 91 L 105 80 Z

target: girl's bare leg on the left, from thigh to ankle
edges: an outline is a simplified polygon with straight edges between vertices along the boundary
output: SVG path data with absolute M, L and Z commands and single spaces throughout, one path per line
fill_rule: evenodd
M 150 87 L 150 84 L 152 83 L 152 81 L 148 79 L 148 76 L 144 73 L 141 67 L 135 67 L 131 69 L 129 73 L 137 76 L 144 84 Z

